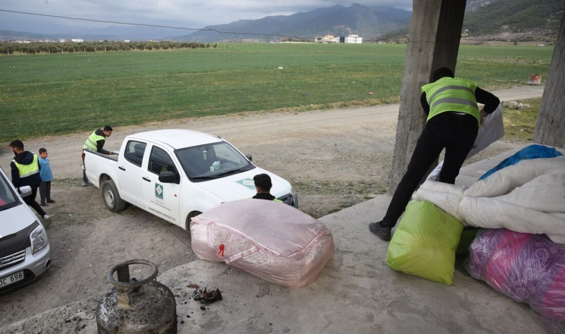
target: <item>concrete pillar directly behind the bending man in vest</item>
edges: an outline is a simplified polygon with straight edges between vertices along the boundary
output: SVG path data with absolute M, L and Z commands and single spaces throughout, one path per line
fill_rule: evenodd
M 465 5 L 464 0 L 414 0 L 389 192 L 394 192 L 406 172 L 424 128 L 420 87 L 429 83 L 433 71 L 440 67 L 455 72 Z

